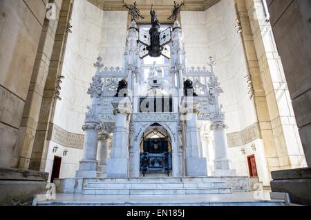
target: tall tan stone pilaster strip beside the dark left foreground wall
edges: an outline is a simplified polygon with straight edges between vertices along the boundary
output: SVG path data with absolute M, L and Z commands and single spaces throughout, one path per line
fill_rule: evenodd
M 21 127 L 19 128 L 19 135 L 15 145 L 15 154 L 11 162 L 12 167 L 28 169 L 30 164 L 30 157 L 35 142 L 36 130 L 38 128 L 41 103 L 44 97 L 44 88 L 48 78 L 48 70 L 59 24 L 62 0 L 55 1 L 54 6 L 55 19 L 45 19 L 44 27 L 41 32 L 35 66 L 33 66 L 32 69 L 26 104 L 23 109 Z

